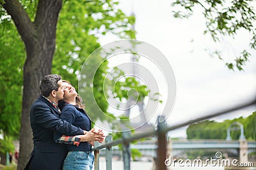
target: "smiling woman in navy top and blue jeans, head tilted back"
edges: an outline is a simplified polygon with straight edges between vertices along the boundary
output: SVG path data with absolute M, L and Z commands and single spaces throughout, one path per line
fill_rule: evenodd
M 63 90 L 64 99 L 59 102 L 59 106 L 61 108 L 60 118 L 62 120 L 67 120 L 67 122 L 70 122 L 76 127 L 80 127 L 81 129 L 88 131 L 87 142 L 81 142 L 78 146 L 67 145 L 68 154 L 63 162 L 63 170 L 92 169 L 94 161 L 94 155 L 91 151 L 93 140 L 102 142 L 103 138 L 90 138 L 89 134 L 96 133 L 104 137 L 103 133 L 102 131 L 95 132 L 94 128 L 91 129 L 91 120 L 83 110 L 81 98 L 77 96 L 76 89 L 72 87 L 68 81 L 63 81 Z M 54 134 L 54 140 L 56 142 L 60 141 L 58 139 L 60 139 L 61 136 L 62 134 Z

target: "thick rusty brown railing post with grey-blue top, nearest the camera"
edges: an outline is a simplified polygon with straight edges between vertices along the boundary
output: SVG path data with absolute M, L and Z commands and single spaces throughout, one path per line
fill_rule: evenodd
M 166 132 L 164 129 L 166 129 L 166 121 L 164 120 L 161 122 L 161 120 L 164 120 L 164 117 L 157 117 L 157 162 L 156 167 L 157 169 L 164 170 L 166 169 L 166 166 L 164 164 L 164 160 L 166 160 L 166 151 L 167 151 L 167 143 L 166 143 Z

